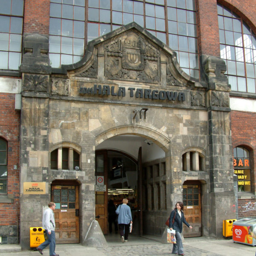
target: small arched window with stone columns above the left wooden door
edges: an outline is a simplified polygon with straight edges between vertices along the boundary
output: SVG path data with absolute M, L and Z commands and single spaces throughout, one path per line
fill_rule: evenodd
M 73 143 L 59 143 L 51 151 L 51 169 L 55 170 L 80 170 L 81 148 Z

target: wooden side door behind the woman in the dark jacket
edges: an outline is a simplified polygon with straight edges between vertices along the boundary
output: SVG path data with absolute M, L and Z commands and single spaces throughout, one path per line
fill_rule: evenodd
M 183 204 L 186 221 L 193 227 L 183 225 L 184 237 L 201 236 L 201 183 L 184 183 Z

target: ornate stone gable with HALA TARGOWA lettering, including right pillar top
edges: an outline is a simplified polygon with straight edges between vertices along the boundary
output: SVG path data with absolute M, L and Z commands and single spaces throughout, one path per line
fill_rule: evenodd
M 203 63 L 209 78 L 199 81 L 180 68 L 175 51 L 130 23 L 90 41 L 81 61 L 53 70 L 70 84 L 53 75 L 50 91 L 55 97 L 226 111 L 225 65 L 212 56 Z

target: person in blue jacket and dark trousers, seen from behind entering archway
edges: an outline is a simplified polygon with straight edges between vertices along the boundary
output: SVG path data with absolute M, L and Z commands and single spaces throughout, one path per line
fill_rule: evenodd
M 119 232 L 123 243 L 128 241 L 129 227 L 132 224 L 131 208 L 128 207 L 127 203 L 128 199 L 124 198 L 122 204 L 116 209 Z

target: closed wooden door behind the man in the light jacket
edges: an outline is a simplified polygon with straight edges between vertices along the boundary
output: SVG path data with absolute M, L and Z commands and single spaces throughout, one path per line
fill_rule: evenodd
M 79 186 L 52 185 L 56 244 L 79 243 Z

